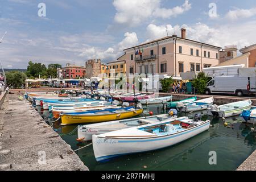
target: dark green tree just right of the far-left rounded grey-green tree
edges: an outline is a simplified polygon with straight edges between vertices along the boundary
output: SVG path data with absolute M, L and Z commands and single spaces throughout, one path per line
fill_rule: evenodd
M 47 77 L 47 68 L 46 65 L 42 63 L 32 63 L 32 61 L 28 62 L 27 66 L 27 76 L 28 77 Z

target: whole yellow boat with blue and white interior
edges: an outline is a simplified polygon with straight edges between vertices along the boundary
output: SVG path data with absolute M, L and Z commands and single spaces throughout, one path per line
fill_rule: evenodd
M 72 125 L 77 123 L 94 123 L 115 121 L 137 116 L 141 114 L 143 109 L 135 109 L 134 107 L 125 107 L 118 109 L 106 109 L 104 111 L 88 111 L 84 113 L 64 113 L 60 114 L 61 125 Z

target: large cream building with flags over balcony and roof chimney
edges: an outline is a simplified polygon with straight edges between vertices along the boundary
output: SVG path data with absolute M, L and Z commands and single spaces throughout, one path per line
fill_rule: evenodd
M 219 63 L 221 47 L 186 39 L 186 30 L 181 29 L 181 38 L 172 35 L 139 46 L 125 49 L 118 60 L 126 60 L 129 73 L 159 73 L 180 76 L 180 73 L 198 71 Z

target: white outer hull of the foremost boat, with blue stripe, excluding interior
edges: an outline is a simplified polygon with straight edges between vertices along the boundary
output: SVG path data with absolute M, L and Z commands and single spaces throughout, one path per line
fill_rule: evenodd
M 120 155 L 158 150 L 195 137 L 196 135 L 208 130 L 209 126 L 210 121 L 207 121 L 202 123 L 202 125 L 193 127 L 181 133 L 179 132 L 164 137 L 139 139 L 104 138 L 99 137 L 99 135 L 93 135 L 93 151 L 97 161 L 104 161 Z

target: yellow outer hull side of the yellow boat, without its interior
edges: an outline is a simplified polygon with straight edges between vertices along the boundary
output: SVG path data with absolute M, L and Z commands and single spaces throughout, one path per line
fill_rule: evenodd
M 114 113 L 106 115 L 61 115 L 61 125 L 73 125 L 77 123 L 94 123 L 104 121 L 115 121 L 118 119 L 125 119 L 141 114 L 143 109 L 134 111 L 127 111 L 125 113 Z

